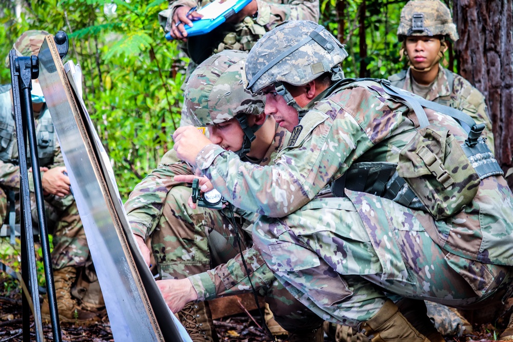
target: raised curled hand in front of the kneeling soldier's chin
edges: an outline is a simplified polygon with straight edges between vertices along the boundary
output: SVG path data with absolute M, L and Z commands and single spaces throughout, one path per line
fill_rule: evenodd
M 173 134 L 176 155 L 189 163 L 196 166 L 196 156 L 200 151 L 212 142 L 194 126 L 180 127 Z

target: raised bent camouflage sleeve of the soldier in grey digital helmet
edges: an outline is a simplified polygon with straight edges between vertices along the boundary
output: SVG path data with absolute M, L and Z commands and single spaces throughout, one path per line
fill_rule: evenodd
M 299 145 L 282 150 L 272 166 L 242 163 L 233 152 L 215 145 L 200 151 L 196 165 L 235 207 L 270 217 L 286 216 L 308 203 L 404 120 L 402 111 L 390 109 L 391 102 L 363 87 L 343 95 L 324 100 L 308 112 L 302 125 L 317 124 L 305 125 L 302 129 L 310 132 L 298 139 Z M 313 115 L 324 115 L 324 122 L 312 119 Z

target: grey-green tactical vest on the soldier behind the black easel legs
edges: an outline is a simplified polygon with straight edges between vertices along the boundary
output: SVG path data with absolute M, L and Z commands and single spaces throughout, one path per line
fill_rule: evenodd
M 0 159 L 3 162 L 18 165 L 16 122 L 12 113 L 10 89 L 10 85 L 0 86 Z M 36 141 L 39 163 L 40 166 L 48 166 L 53 163 L 55 134 L 50 111 L 46 104 L 43 106 L 37 122 Z M 27 158 L 30 158 L 29 153 L 27 153 Z M 30 159 L 27 161 L 30 164 Z

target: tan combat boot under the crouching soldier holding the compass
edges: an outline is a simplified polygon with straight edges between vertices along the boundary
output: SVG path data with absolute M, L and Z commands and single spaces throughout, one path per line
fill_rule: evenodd
M 362 322 L 360 332 L 372 342 L 430 342 L 413 328 L 391 300 L 387 300 L 374 317 Z

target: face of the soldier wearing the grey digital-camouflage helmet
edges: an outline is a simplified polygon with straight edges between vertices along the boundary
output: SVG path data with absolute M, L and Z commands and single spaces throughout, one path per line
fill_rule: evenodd
M 287 105 L 287 102 L 282 95 L 278 95 L 274 91 L 274 87 L 264 89 L 265 94 L 265 110 L 267 115 L 272 115 L 274 120 L 285 128 L 287 131 L 292 132 L 295 126 L 299 125 L 298 111 L 294 107 Z

